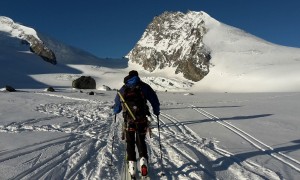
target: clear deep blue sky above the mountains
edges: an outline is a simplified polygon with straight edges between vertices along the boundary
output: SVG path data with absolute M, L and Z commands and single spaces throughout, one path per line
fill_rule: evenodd
M 153 17 L 205 11 L 267 41 L 300 47 L 299 0 L 2 0 L 0 16 L 99 57 L 122 57 Z

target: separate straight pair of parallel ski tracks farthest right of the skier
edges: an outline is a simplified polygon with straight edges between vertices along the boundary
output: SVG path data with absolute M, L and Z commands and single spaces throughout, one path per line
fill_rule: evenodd
M 229 129 L 230 131 L 234 132 L 235 134 L 239 135 L 240 137 L 242 137 L 243 139 L 245 139 L 247 142 L 249 142 L 250 144 L 252 144 L 254 147 L 256 147 L 257 149 L 259 149 L 262 152 L 265 152 L 266 154 L 269 154 L 270 156 L 272 156 L 273 158 L 279 160 L 280 162 L 286 164 L 287 166 L 291 167 L 292 169 L 296 170 L 297 172 L 300 173 L 300 162 L 282 152 L 277 152 L 274 151 L 274 149 L 267 145 L 266 143 L 262 142 L 261 140 L 255 138 L 254 136 L 248 134 L 247 132 L 245 132 L 244 130 L 236 127 L 235 125 L 231 124 L 230 122 L 226 122 L 224 120 L 222 120 L 221 118 L 205 111 L 202 108 L 198 108 L 194 105 L 190 105 L 190 107 L 192 109 L 194 109 L 195 111 L 197 111 L 198 113 L 202 114 L 203 116 L 214 120 L 216 123 L 226 127 L 227 129 Z M 224 151 L 223 151 L 224 152 Z M 227 154 L 229 152 L 226 152 Z M 233 155 L 232 153 L 229 153 L 230 155 Z

